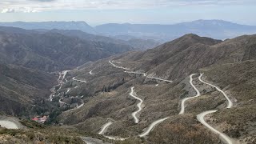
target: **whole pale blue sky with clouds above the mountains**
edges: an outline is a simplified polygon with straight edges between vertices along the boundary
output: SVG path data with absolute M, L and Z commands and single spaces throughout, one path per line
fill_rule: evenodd
M 1 0 L 0 22 L 173 24 L 222 19 L 256 26 L 256 0 Z

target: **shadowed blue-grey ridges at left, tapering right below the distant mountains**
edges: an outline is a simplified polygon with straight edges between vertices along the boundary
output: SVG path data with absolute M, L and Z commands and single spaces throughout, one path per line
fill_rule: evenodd
M 72 69 L 129 50 L 134 48 L 54 32 L 0 28 L 0 62 L 47 72 Z

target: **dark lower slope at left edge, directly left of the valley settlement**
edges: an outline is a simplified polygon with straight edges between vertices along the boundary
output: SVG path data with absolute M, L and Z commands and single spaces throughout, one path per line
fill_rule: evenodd
M 57 83 L 53 74 L 14 65 L 0 67 L 2 114 L 29 116 L 46 112 L 46 106 L 40 103 L 49 98 L 50 88 Z

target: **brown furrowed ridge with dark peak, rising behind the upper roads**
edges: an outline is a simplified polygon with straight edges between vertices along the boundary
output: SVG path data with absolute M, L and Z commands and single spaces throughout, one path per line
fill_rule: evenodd
M 255 59 L 255 38 L 256 35 L 245 35 L 222 42 L 186 34 L 152 50 L 119 58 L 133 64 L 134 70 L 168 79 L 184 78 L 205 66 Z

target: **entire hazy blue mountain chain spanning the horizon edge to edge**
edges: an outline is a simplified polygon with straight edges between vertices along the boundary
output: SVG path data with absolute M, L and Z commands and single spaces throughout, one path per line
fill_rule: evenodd
M 240 25 L 222 20 L 197 20 L 172 25 L 108 23 L 89 26 L 86 22 L 0 22 L 0 26 L 14 26 L 27 30 L 82 30 L 90 34 L 100 34 L 122 40 L 131 38 L 154 39 L 168 42 L 184 34 L 226 39 L 242 34 L 255 34 L 256 26 Z

